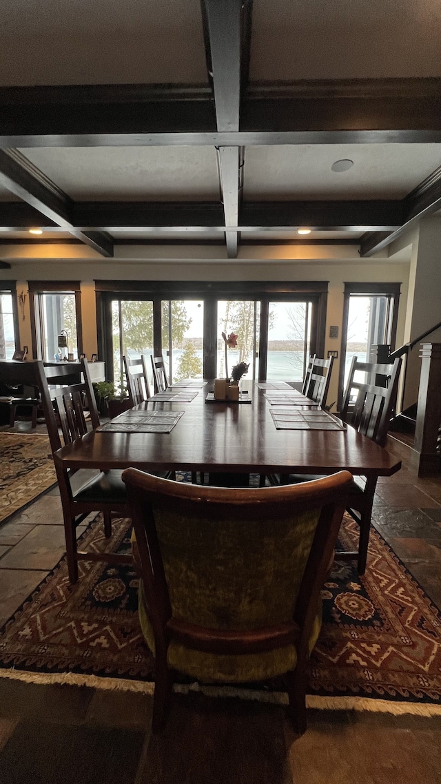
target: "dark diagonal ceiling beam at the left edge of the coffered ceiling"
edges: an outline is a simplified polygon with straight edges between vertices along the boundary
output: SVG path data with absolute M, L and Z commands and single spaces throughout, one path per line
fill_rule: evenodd
M 27 228 L 40 226 L 41 216 L 45 216 L 102 256 L 113 256 L 111 238 L 98 231 L 81 231 L 75 228 L 69 215 L 73 201 L 20 152 L 0 150 L 0 185 L 40 213 L 37 223 L 31 223 Z

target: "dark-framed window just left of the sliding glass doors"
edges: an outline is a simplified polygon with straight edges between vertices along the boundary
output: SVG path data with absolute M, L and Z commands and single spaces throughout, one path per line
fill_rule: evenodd
M 46 362 L 78 359 L 82 354 L 79 283 L 29 281 L 29 295 L 34 356 Z

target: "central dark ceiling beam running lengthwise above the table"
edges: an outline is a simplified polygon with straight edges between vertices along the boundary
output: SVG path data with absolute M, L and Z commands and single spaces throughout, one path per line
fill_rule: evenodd
M 241 2 L 202 0 L 206 60 L 211 64 L 217 131 L 238 132 L 241 91 Z M 218 147 L 225 226 L 239 221 L 239 147 Z M 238 233 L 226 231 L 228 259 L 237 258 Z

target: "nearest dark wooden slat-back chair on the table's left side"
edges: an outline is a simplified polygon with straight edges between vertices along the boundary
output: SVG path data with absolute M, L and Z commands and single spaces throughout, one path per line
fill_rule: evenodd
M 36 366 L 36 378 L 52 452 L 56 452 L 63 445 L 79 441 L 88 430 L 96 430 L 100 425 L 100 418 L 87 360 L 49 367 L 45 367 L 41 361 L 33 364 Z M 56 466 L 64 518 L 67 569 L 71 583 L 78 580 L 79 560 L 108 561 L 115 564 L 131 562 L 129 555 L 78 550 L 76 538 L 76 528 L 92 512 L 103 513 L 104 535 L 107 538 L 111 536 L 112 512 L 129 517 L 126 485 L 122 482 L 121 474 L 120 470 L 99 471 L 83 482 L 80 488 L 73 489 L 72 472 Z

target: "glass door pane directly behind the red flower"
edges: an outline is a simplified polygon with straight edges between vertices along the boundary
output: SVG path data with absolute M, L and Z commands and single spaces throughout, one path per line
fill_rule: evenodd
M 257 378 L 257 360 L 259 356 L 259 328 L 261 320 L 261 303 L 251 300 L 231 301 L 219 299 L 217 301 L 217 378 L 227 376 L 225 368 L 225 343 L 221 333 L 237 335 L 237 347 L 228 348 L 228 374 L 239 362 L 250 364 L 246 379 Z

